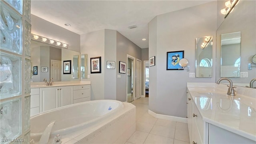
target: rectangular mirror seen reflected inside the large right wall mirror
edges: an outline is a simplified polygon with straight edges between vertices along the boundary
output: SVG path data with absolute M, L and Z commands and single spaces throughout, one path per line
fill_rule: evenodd
M 240 77 L 241 32 L 221 34 L 220 77 Z

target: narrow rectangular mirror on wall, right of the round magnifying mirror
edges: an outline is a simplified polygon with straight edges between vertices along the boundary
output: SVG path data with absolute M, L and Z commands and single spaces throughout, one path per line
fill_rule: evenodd
M 212 77 L 212 36 L 196 38 L 196 78 Z

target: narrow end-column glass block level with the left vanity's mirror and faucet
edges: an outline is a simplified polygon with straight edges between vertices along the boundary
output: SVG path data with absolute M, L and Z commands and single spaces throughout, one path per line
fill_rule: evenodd
M 31 60 L 25 59 L 25 94 L 30 93 Z

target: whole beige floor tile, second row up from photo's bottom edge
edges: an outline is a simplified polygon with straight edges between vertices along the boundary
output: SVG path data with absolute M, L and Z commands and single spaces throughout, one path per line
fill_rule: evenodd
M 174 132 L 175 132 L 174 128 L 154 125 L 154 127 L 150 131 L 150 134 L 156 134 L 156 135 L 165 136 L 168 138 L 174 138 Z

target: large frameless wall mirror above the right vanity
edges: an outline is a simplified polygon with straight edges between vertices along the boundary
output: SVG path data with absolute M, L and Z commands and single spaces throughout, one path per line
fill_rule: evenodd
M 223 3 L 225 1 L 218 1 Z M 250 81 L 256 78 L 256 68 L 248 70 L 248 63 L 252 63 L 252 57 L 256 53 L 256 1 L 255 0 L 240 0 L 232 13 L 224 20 L 224 15 L 221 19 L 224 21 L 216 31 L 216 82 L 221 78 L 221 37 L 222 34 L 240 32 L 240 72 L 247 72 L 248 77 L 230 77 L 234 86 L 250 86 Z M 231 54 L 231 52 L 230 52 Z M 231 61 L 231 60 L 228 60 Z M 233 60 L 234 63 L 234 60 Z M 235 70 L 234 70 L 235 71 Z M 238 71 L 238 69 L 237 69 Z M 247 74 L 246 73 L 246 74 Z M 255 84 L 255 83 L 254 83 Z

